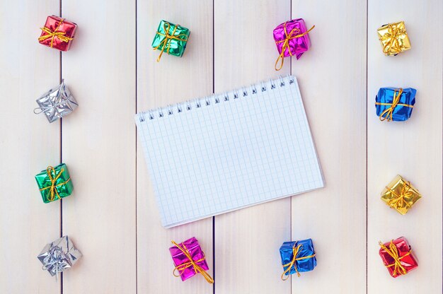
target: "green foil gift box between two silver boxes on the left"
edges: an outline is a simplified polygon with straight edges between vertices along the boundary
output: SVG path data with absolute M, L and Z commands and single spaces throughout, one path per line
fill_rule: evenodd
M 56 167 L 48 166 L 46 170 L 35 175 L 35 180 L 45 203 L 69 196 L 74 189 L 68 167 L 64 163 Z

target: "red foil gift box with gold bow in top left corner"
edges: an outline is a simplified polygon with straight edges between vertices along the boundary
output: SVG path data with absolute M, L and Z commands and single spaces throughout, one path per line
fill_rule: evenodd
M 76 33 L 77 25 L 58 16 L 48 16 L 38 42 L 47 47 L 68 51 Z

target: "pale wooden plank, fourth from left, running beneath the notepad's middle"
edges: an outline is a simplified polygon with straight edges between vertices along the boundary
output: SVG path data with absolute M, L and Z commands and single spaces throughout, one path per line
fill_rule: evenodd
M 275 72 L 272 30 L 290 17 L 289 0 L 214 2 L 214 86 L 221 93 L 289 73 Z M 282 242 L 290 239 L 289 198 L 215 218 L 217 294 L 290 293 L 280 280 Z

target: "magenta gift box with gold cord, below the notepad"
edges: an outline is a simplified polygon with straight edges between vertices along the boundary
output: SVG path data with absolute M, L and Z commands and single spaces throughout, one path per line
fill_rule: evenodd
M 173 271 L 174 276 L 180 276 L 182 281 L 185 281 L 196 274 L 202 274 L 208 283 L 214 283 L 214 280 L 206 272 L 209 267 L 207 266 L 205 253 L 203 253 L 195 237 L 180 244 L 174 241 L 171 242 L 174 246 L 169 248 L 169 252 L 171 252 L 174 265 L 176 266 Z

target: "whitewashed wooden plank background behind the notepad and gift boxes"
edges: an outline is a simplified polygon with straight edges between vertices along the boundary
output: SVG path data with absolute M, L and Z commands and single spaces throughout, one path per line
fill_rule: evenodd
M 38 0 L 0 3 L 0 293 L 442 293 L 442 1 Z M 69 52 L 39 45 L 47 15 L 79 25 Z M 297 76 L 326 188 L 164 229 L 137 111 L 275 78 L 272 29 L 302 17 Z M 183 58 L 151 50 L 161 19 L 190 28 Z M 413 48 L 376 36 L 405 20 Z M 79 108 L 48 124 L 35 99 L 64 78 Z M 418 89 L 413 116 L 379 122 L 380 87 Z M 43 204 L 33 176 L 69 165 L 74 194 Z M 379 193 L 401 174 L 423 198 L 406 216 Z M 81 259 L 55 281 L 36 259 L 69 235 Z M 393 279 L 379 240 L 404 235 L 419 267 Z M 172 275 L 170 240 L 195 236 L 216 283 Z M 281 281 L 282 242 L 313 238 L 315 271 Z

